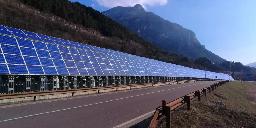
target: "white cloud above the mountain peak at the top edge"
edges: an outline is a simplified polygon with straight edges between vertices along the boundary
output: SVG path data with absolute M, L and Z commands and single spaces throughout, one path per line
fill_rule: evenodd
M 100 6 L 106 8 L 113 8 L 117 6 L 134 6 L 140 4 L 146 9 L 146 7 L 153 7 L 159 5 L 166 5 L 168 0 L 93 0 L 97 2 Z

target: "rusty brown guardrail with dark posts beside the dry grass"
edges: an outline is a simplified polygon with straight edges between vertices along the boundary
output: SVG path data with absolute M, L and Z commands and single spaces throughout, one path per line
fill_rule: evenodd
M 162 105 L 156 108 L 156 111 L 153 115 L 153 119 L 149 125 L 148 128 L 155 128 L 158 124 L 158 121 L 161 117 L 166 116 L 166 128 L 170 128 L 171 125 L 171 111 L 174 110 L 175 108 L 187 103 L 187 109 L 190 110 L 190 100 L 197 97 L 198 101 L 200 101 L 200 95 L 205 94 L 207 91 L 211 93 L 211 90 L 213 91 L 214 88 L 216 89 L 217 87 L 221 86 L 222 84 L 226 84 L 230 82 L 229 80 L 227 81 L 222 81 L 216 84 L 213 84 L 211 86 L 208 86 L 207 88 L 203 88 L 201 90 L 198 90 L 196 92 L 187 94 L 186 96 L 182 96 L 181 98 L 178 98 L 172 102 L 169 102 L 166 104 L 165 100 L 162 100 Z

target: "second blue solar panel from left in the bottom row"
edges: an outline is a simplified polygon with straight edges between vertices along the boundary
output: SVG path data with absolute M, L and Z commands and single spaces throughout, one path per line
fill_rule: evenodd
M 11 74 L 28 74 L 25 65 L 8 65 Z

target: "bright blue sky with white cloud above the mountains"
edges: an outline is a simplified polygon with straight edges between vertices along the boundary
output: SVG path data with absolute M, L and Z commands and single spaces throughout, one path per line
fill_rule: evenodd
M 71 0 L 105 11 L 141 4 L 146 11 L 192 30 L 206 49 L 246 65 L 256 62 L 255 0 Z

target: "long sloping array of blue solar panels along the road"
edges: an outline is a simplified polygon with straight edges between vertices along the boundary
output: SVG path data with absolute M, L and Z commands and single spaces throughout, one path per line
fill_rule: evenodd
M 205 71 L 0 25 L 0 74 L 205 78 Z M 206 72 L 215 79 L 216 73 Z M 229 79 L 218 73 L 218 79 Z

